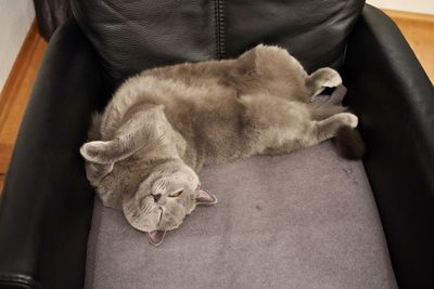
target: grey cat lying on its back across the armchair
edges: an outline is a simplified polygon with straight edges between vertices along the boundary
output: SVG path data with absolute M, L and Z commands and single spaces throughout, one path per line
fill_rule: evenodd
M 307 75 L 284 49 L 257 45 L 235 60 L 186 63 L 128 79 L 94 115 L 80 153 L 102 202 L 124 211 L 154 245 L 197 205 L 203 166 L 285 154 L 329 140 L 358 119 L 314 105 L 342 83 L 331 68 Z

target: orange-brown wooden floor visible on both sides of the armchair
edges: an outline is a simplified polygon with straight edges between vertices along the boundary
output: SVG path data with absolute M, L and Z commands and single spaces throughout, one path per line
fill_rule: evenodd
M 385 11 L 399 26 L 434 82 L 434 15 Z M 46 41 L 34 24 L 0 95 L 0 191 Z M 1 194 L 1 193 L 0 193 Z

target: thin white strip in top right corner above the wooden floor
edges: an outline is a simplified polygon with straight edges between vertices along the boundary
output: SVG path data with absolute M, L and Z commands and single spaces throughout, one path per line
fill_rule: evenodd
M 383 9 L 434 14 L 434 0 L 367 0 L 367 3 Z

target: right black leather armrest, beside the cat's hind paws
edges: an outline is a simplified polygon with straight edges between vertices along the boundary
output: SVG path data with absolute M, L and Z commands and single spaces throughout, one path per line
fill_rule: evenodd
M 434 90 L 392 21 L 366 6 L 344 82 L 400 288 L 434 288 Z

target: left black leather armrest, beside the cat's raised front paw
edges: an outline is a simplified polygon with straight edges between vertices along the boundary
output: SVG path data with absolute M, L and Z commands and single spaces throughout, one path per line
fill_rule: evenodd
M 44 55 L 5 179 L 0 288 L 81 288 L 93 192 L 78 148 L 103 100 L 95 53 L 74 21 Z

